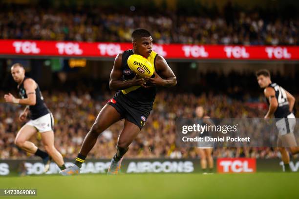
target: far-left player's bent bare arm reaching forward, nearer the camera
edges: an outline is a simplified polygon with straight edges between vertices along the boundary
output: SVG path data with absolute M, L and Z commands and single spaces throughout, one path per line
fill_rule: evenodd
M 32 79 L 24 80 L 24 88 L 26 90 L 27 98 L 25 99 L 18 99 L 15 98 L 11 93 L 4 95 L 4 99 L 6 102 L 9 103 L 19 103 L 22 105 L 30 105 L 34 106 L 36 104 L 36 82 Z

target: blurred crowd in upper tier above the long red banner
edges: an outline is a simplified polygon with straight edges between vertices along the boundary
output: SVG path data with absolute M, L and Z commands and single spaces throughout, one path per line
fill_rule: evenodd
M 0 39 L 128 42 L 131 32 L 143 27 L 157 43 L 299 45 L 299 18 L 265 16 L 230 7 L 221 13 L 188 15 L 101 7 L 2 6 Z

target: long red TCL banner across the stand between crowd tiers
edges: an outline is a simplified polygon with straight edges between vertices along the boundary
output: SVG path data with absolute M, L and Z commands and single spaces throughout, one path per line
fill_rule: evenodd
M 131 43 L 0 40 L 0 55 L 114 58 Z M 299 46 L 154 44 L 166 59 L 299 60 Z

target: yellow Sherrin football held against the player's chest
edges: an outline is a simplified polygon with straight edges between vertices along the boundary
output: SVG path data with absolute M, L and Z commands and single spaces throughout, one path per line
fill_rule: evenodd
M 129 68 L 141 77 L 151 77 L 154 73 L 153 65 L 141 55 L 130 55 L 127 62 Z

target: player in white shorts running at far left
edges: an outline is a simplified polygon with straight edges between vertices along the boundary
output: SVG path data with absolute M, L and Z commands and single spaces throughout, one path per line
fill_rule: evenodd
M 21 99 L 17 99 L 9 93 L 4 95 L 5 101 L 27 105 L 19 117 L 21 122 L 27 118 L 29 111 L 31 113 L 30 120 L 18 132 L 15 144 L 24 151 L 41 157 L 45 164 L 44 172 L 49 169 L 51 159 L 57 163 L 61 170 L 65 169 L 64 159 L 54 146 L 54 119 L 43 101 L 38 84 L 33 79 L 25 76 L 25 70 L 20 63 L 16 63 L 11 67 L 11 75 L 18 83 Z M 33 142 L 28 141 L 38 131 L 41 133 L 46 152 L 40 150 Z

